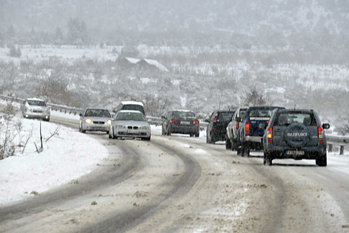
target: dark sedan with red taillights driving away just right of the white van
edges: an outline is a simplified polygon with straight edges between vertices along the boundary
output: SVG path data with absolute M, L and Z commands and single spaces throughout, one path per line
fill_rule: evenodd
M 199 137 L 199 120 L 193 111 L 173 110 L 170 111 L 162 123 L 162 135 L 170 136 L 171 133 L 190 134 L 190 137 Z

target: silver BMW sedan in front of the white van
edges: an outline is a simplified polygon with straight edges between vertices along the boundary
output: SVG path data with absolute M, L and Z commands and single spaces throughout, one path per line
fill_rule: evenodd
M 141 138 L 150 141 L 150 124 L 140 111 L 118 111 L 109 127 L 109 138 Z

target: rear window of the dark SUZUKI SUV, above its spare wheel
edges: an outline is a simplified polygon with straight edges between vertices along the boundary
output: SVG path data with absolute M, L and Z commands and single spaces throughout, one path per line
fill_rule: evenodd
M 312 112 L 278 112 L 275 116 L 274 125 L 285 126 L 292 123 L 300 123 L 306 126 L 317 126 Z

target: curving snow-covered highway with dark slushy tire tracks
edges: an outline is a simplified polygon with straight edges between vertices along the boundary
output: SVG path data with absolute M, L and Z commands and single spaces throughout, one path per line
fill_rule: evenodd
M 76 119 L 51 117 L 77 130 Z M 348 158 L 249 158 L 181 134 L 148 141 L 88 134 L 100 169 L 0 208 L 0 232 L 349 232 Z

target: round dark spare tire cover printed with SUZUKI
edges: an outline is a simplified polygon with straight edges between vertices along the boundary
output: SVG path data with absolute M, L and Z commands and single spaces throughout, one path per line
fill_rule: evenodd
M 310 139 L 309 129 L 300 123 L 293 123 L 287 126 L 284 133 L 285 141 L 292 147 L 302 147 Z

